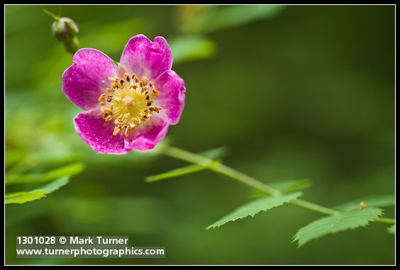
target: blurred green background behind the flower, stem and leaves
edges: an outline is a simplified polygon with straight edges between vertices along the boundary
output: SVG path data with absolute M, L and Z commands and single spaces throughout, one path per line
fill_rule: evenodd
M 78 23 L 81 47 L 117 61 L 133 35 L 167 39 L 187 99 L 165 143 L 228 147 L 230 167 L 265 183 L 311 178 L 303 198 L 335 206 L 394 193 L 394 8 L 62 6 L 61 16 Z M 85 169 L 45 198 L 6 206 L 6 264 L 394 264 L 384 224 L 298 248 L 291 237 L 321 215 L 291 205 L 206 231 L 253 190 L 211 171 L 146 183 L 184 162 L 93 152 L 74 132 L 82 110 L 61 90 L 72 57 L 43 9 L 60 6 L 5 6 L 6 174 Z M 17 235 L 128 235 L 167 253 L 17 259 Z

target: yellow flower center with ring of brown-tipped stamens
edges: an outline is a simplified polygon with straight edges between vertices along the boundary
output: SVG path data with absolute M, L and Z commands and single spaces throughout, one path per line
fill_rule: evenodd
M 130 130 L 134 130 L 140 123 L 150 121 L 152 113 L 158 113 L 161 107 L 152 106 L 150 96 L 160 96 L 160 91 L 155 90 L 153 84 L 148 82 L 146 77 L 138 79 L 135 74 L 125 74 L 125 79 L 118 77 L 109 78 L 113 81 L 112 88 L 107 88 L 106 94 L 99 96 L 101 113 L 103 119 L 113 119 L 116 127 L 113 135 L 117 135 L 124 128 L 128 136 Z M 116 118 L 114 118 L 116 116 Z

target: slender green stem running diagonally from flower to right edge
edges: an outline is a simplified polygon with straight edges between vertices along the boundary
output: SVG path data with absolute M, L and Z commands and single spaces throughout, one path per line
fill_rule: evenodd
M 179 149 L 177 147 L 172 147 L 172 146 L 163 148 L 162 154 L 165 154 L 170 157 L 174 157 L 176 159 L 184 160 L 185 162 L 194 163 L 194 164 L 211 164 L 211 162 L 213 162 L 212 159 L 209 159 L 207 157 L 203 157 L 199 154 L 194 154 L 194 153 L 188 152 L 186 150 L 182 150 L 182 149 Z M 277 189 L 273 189 L 271 186 L 267 186 L 266 184 L 254 179 L 246 174 L 243 174 L 240 171 L 236 171 L 235 169 L 232 169 L 224 164 L 217 163 L 215 166 L 211 167 L 210 169 L 212 171 L 216 171 L 220 174 L 226 175 L 226 176 L 230 177 L 231 179 L 240 181 L 243 184 L 252 186 L 255 189 L 264 191 L 265 193 L 268 193 L 271 196 L 278 196 L 279 194 L 281 194 L 281 192 L 278 191 Z M 325 215 L 335 215 L 335 214 L 340 213 L 340 211 L 338 211 L 338 210 L 334 210 L 332 208 L 326 208 L 325 206 L 319 206 L 316 203 L 310 203 L 308 201 L 304 201 L 301 199 L 291 200 L 290 203 L 294 206 L 299 206 L 301 208 L 312 210 L 314 212 L 322 213 Z M 375 218 L 374 222 L 394 224 L 395 220 L 393 218 Z

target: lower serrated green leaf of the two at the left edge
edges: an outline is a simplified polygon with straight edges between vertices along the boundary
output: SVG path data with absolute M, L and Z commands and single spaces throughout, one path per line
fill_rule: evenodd
M 49 184 L 42 186 L 40 189 L 35 189 L 33 191 L 28 192 L 16 192 L 11 194 L 6 194 L 5 203 L 26 203 L 28 201 L 34 201 L 42 198 L 45 194 L 52 193 L 57 189 L 60 189 L 61 186 L 65 186 L 68 184 L 69 176 L 64 176 L 60 179 L 50 182 Z

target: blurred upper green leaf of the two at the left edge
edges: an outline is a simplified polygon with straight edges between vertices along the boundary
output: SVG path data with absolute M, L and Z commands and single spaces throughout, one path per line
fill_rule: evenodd
M 53 169 L 51 171 L 45 172 L 44 174 L 15 174 L 6 175 L 5 183 L 9 184 L 22 184 L 22 183 L 39 183 L 52 181 L 58 179 L 62 176 L 74 176 L 79 174 L 84 169 L 84 164 L 77 162 L 74 164 L 69 164 L 64 167 Z

